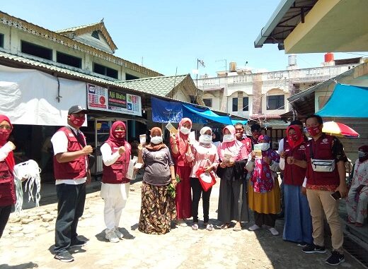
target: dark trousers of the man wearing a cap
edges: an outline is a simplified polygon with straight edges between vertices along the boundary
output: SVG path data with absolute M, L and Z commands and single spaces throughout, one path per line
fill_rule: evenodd
M 86 184 L 58 184 L 56 193 L 58 203 L 54 252 L 60 253 L 76 241 L 76 226 L 79 217 L 83 215 L 86 201 Z

